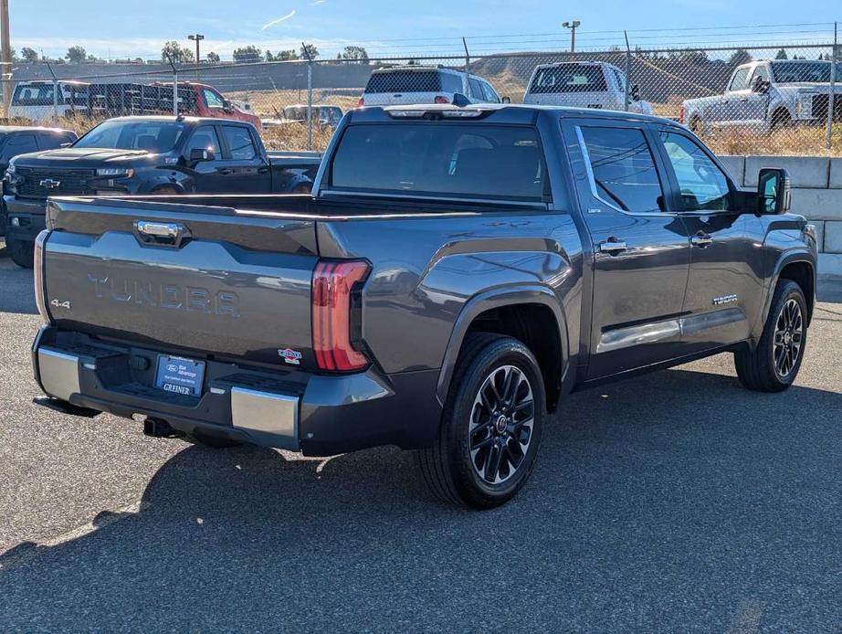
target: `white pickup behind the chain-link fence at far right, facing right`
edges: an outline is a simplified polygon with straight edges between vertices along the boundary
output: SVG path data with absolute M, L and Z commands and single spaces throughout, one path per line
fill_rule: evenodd
M 773 132 L 795 124 L 824 125 L 830 100 L 830 61 L 753 61 L 734 69 L 724 94 L 684 101 L 679 122 L 694 132 L 747 126 Z M 835 122 L 842 122 L 842 64 L 837 64 Z

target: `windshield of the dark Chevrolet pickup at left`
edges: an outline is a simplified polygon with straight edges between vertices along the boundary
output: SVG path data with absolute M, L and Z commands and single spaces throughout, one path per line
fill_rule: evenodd
M 110 121 L 100 123 L 73 147 L 145 150 L 160 154 L 172 150 L 182 134 L 184 124 L 178 122 Z

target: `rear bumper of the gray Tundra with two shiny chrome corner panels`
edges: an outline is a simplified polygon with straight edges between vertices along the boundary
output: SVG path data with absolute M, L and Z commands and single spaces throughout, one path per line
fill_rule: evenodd
M 32 347 L 48 395 L 120 417 L 165 420 L 186 434 L 208 430 L 264 447 L 329 456 L 379 445 L 429 446 L 441 408 L 437 370 L 309 375 L 205 360 L 203 396 L 153 387 L 156 351 L 103 343 L 44 326 Z M 145 363 L 142 361 L 145 359 Z

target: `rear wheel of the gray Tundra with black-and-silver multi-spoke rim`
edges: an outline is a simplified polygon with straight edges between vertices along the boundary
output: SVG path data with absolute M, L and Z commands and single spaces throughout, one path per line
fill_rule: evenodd
M 459 355 L 433 447 L 418 452 L 427 486 L 446 502 L 491 509 L 529 479 L 546 401 L 534 355 L 512 337 L 472 333 Z

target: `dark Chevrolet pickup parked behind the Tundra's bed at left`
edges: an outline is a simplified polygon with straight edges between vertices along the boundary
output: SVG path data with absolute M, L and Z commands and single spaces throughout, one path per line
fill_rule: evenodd
M 250 123 L 201 117 L 121 117 L 71 147 L 9 164 L 6 247 L 32 266 L 50 195 L 307 193 L 319 153 L 267 152 Z

